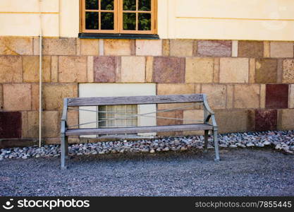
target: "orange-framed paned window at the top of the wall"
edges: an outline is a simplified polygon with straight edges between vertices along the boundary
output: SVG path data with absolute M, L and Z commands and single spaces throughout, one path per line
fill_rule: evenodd
M 157 0 L 81 0 L 81 8 L 82 33 L 157 33 Z

